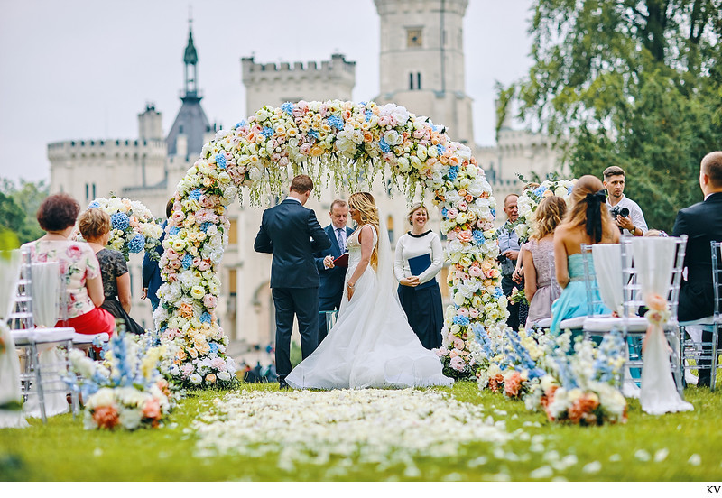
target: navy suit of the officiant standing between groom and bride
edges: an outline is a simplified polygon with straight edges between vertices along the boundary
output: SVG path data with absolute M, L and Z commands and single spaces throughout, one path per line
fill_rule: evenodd
M 319 269 L 320 285 L 319 285 L 319 313 L 321 311 L 332 311 L 338 309 L 341 306 L 341 298 L 344 294 L 344 280 L 346 279 L 347 268 L 341 266 L 335 266 L 333 268 L 326 268 L 323 264 L 323 259 L 326 256 L 332 256 L 334 259 L 338 258 L 341 253 L 341 248 L 338 247 L 338 238 L 336 236 L 336 226 L 333 224 L 324 228 L 326 235 L 329 236 L 331 246 L 324 250 L 313 254 L 316 260 L 316 268 Z M 346 227 L 346 240 L 348 242 L 348 236 L 354 233 L 353 228 Z M 329 333 L 326 327 L 325 317 L 319 317 L 319 343 L 326 338 Z

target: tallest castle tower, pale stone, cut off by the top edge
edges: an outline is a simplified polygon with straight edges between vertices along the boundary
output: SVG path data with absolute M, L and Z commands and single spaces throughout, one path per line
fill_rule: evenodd
M 393 102 L 443 124 L 474 146 L 464 85 L 463 21 L 468 0 L 374 0 L 381 20 L 379 104 Z

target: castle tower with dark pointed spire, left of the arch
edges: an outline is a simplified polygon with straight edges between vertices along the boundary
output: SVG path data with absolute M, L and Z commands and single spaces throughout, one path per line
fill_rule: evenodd
M 206 113 L 200 106 L 198 89 L 198 52 L 193 43 L 193 32 L 188 29 L 188 45 L 183 54 L 185 64 L 185 83 L 183 97 L 180 100 L 183 105 L 171 126 L 166 142 L 168 143 L 169 157 L 180 156 L 192 158 L 200 154 L 207 134 L 211 132 Z

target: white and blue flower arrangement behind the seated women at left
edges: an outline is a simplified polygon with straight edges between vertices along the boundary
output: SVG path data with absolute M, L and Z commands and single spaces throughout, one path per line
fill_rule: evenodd
M 110 215 L 108 247 L 120 251 L 125 261 L 130 253 L 140 253 L 143 249 L 151 259 L 158 260 L 154 249 L 162 235 L 161 219 L 154 219 L 143 204 L 128 198 L 97 198 L 88 205 L 89 208 L 100 208 Z

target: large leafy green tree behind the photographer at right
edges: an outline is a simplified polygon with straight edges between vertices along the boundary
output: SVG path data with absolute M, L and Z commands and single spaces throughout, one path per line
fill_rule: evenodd
M 722 143 L 722 0 L 537 0 L 530 32 L 532 68 L 500 98 L 575 176 L 625 168 L 648 225 L 671 230 Z

